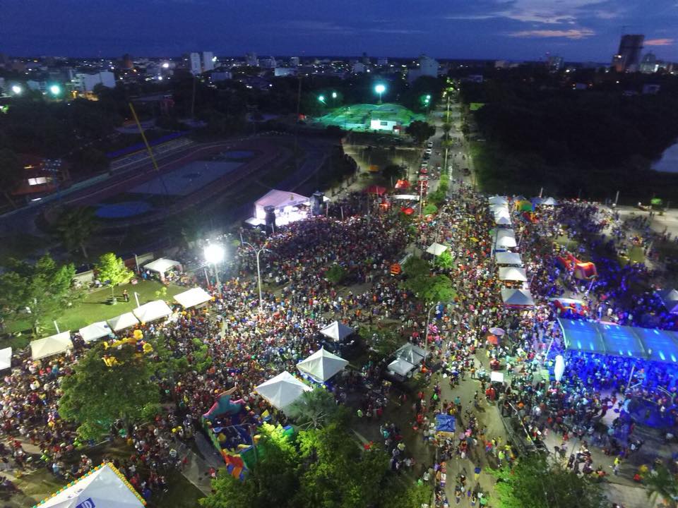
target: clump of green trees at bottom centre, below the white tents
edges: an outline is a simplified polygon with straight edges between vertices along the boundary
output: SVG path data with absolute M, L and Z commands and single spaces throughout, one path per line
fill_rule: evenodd
M 313 423 L 292 437 L 263 425 L 246 480 L 221 471 L 203 507 L 420 508 L 431 501 L 430 488 L 409 486 L 390 472 L 379 445 L 362 447 L 345 409 L 324 389 L 305 394 L 290 412 L 297 422 Z M 312 416 L 320 413 L 326 414 L 320 421 Z

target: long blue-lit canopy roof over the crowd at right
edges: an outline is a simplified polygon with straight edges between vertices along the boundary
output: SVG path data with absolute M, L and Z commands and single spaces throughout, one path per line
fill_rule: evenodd
M 678 363 L 678 332 L 560 317 L 558 323 L 569 350 Z

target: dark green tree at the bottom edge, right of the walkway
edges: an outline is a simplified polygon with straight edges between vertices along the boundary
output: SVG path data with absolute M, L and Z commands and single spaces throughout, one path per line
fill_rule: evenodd
M 524 456 L 513 468 L 489 472 L 498 478 L 496 492 L 504 508 L 604 508 L 609 504 L 600 483 L 544 456 Z

